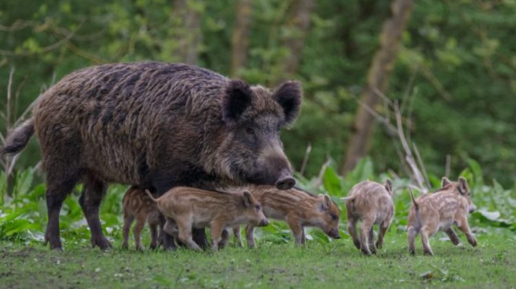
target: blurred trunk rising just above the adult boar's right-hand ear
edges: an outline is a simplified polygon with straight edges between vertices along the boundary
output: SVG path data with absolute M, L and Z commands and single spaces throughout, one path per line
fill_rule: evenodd
M 290 12 L 289 21 L 287 23 L 290 34 L 283 38 L 283 45 L 288 49 L 289 54 L 283 60 L 283 69 L 281 77 L 277 78 L 274 84 L 285 81 L 292 74 L 297 72 L 299 67 L 299 59 L 303 52 L 306 35 L 310 29 L 310 18 L 314 10 L 314 0 L 295 0 L 293 1 Z

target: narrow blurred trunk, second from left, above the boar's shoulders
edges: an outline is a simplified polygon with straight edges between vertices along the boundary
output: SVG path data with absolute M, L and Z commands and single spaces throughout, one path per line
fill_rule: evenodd
M 245 67 L 249 47 L 249 30 L 251 25 L 251 0 L 237 2 L 237 19 L 231 37 L 231 75 L 237 76 L 238 69 Z

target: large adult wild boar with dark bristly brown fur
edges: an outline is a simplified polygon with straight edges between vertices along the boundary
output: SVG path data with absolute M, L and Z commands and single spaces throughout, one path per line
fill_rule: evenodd
M 99 65 L 50 87 L 0 153 L 18 153 L 35 131 L 47 173 L 45 242 L 61 249 L 61 204 L 82 182 L 79 203 L 92 245 L 106 249 L 111 245 L 98 206 L 111 182 L 158 195 L 173 186 L 290 189 L 294 179 L 279 129 L 292 125 L 300 105 L 301 87 L 294 81 L 270 92 L 191 65 Z M 164 247 L 171 246 L 166 236 Z

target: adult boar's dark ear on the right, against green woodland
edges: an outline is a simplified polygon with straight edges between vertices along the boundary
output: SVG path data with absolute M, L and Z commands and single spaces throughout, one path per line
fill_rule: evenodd
M 301 109 L 301 83 L 297 81 L 286 81 L 279 85 L 272 94 L 285 113 L 285 124 L 292 125 Z

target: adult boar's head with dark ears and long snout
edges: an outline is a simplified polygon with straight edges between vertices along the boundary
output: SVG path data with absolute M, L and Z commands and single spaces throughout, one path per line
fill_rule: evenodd
M 274 92 L 230 81 L 221 103 L 224 127 L 215 156 L 217 170 L 237 182 L 292 188 L 295 181 L 279 131 L 292 125 L 300 108 L 301 85 L 295 81 L 286 81 Z

